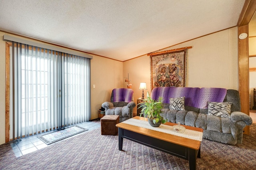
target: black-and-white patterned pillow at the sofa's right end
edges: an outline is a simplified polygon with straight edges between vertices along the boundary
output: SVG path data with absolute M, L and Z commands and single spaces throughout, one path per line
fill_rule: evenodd
M 208 102 L 207 115 L 215 115 L 230 118 L 231 104 L 227 102 Z

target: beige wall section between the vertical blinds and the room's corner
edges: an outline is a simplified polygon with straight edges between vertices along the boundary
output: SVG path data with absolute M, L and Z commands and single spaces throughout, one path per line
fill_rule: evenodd
M 91 60 L 91 119 L 98 118 L 103 102 L 110 102 L 114 88 L 122 88 L 123 62 L 92 55 Z M 95 84 L 95 88 L 93 85 Z

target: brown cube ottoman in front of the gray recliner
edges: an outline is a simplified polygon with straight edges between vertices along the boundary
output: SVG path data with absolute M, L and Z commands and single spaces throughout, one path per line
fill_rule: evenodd
M 104 115 L 100 119 L 101 135 L 117 135 L 119 123 L 119 115 Z

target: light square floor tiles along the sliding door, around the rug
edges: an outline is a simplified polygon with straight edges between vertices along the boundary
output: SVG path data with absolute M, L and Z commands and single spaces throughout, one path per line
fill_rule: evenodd
M 100 127 L 100 123 L 96 123 L 96 122 L 92 122 L 92 121 L 78 123 L 76 125 L 88 129 L 88 131 L 85 131 L 82 133 L 88 133 L 88 132 Z M 52 131 L 50 131 L 50 132 L 52 132 Z M 50 133 L 50 132 L 46 132 L 46 133 Z M 30 152 L 34 152 L 36 150 L 50 146 L 51 144 L 46 145 L 43 141 L 41 141 L 40 139 L 37 138 L 37 136 L 44 135 L 46 133 L 34 135 L 31 137 L 25 137 L 25 138 L 18 139 L 15 141 L 10 141 L 10 145 L 11 145 L 12 150 L 14 151 L 16 157 L 19 157 L 24 154 L 28 154 Z M 81 135 L 82 133 L 79 133 L 77 135 Z M 74 135 L 74 136 L 76 136 L 76 135 Z M 74 137 L 74 136 L 72 136 L 72 137 Z M 66 139 L 68 139 L 68 138 L 66 138 Z M 63 140 L 65 140 L 65 139 L 63 139 Z M 58 142 L 60 142 L 60 141 L 58 141 Z

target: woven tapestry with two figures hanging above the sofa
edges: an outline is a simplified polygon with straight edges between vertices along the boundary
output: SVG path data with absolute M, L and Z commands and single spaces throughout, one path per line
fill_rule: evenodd
M 187 49 L 150 55 L 151 88 L 185 87 Z

